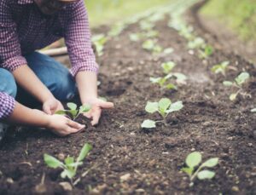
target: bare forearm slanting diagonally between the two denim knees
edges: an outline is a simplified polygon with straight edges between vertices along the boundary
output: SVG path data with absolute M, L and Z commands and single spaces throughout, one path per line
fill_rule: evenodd
M 16 82 L 40 102 L 43 103 L 45 100 L 53 97 L 49 89 L 47 89 L 37 75 L 32 72 L 29 66 L 20 66 L 13 74 Z

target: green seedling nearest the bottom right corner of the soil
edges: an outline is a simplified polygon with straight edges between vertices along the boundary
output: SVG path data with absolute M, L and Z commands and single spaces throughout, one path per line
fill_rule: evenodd
M 210 158 L 205 163 L 201 163 L 201 158 L 200 152 L 191 152 L 186 158 L 186 164 L 188 167 L 184 167 L 182 171 L 189 175 L 189 186 L 194 185 L 193 181 L 195 180 L 195 177 L 199 180 L 211 180 L 215 176 L 215 172 L 201 169 L 215 167 L 218 164 L 218 158 Z M 200 163 L 201 165 L 199 166 Z

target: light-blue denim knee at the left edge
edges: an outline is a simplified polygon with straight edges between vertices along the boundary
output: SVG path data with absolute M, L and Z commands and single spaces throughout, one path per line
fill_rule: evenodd
M 3 68 L 0 68 L 0 91 L 13 96 L 14 98 L 17 95 L 15 77 L 11 72 Z

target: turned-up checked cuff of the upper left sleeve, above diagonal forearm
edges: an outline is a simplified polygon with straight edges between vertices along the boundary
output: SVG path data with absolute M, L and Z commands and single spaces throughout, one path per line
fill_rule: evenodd
M 18 67 L 26 65 L 27 61 L 26 58 L 23 56 L 15 56 L 5 60 L 3 62 L 3 68 L 9 70 L 9 72 L 14 72 Z

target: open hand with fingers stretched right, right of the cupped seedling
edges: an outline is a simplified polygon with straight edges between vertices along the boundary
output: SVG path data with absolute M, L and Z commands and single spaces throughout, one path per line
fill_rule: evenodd
M 113 108 L 112 102 L 104 101 L 99 98 L 88 100 L 85 104 L 89 104 L 91 106 L 90 111 L 84 113 L 85 117 L 92 119 L 91 125 L 96 125 L 97 123 L 99 123 L 102 109 Z

